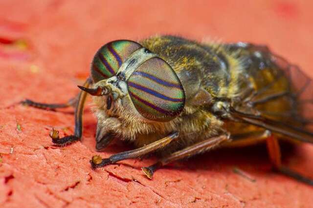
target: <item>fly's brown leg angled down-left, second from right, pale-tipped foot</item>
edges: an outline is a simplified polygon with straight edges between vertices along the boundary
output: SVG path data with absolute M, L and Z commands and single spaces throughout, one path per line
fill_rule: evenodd
M 207 140 L 204 140 L 202 142 L 199 142 L 195 145 L 188 146 L 182 150 L 179 150 L 177 152 L 172 153 L 168 157 L 164 157 L 161 160 L 159 160 L 156 164 L 149 166 L 149 167 L 142 167 L 142 171 L 144 174 L 149 178 L 152 179 L 153 173 L 156 171 L 156 169 L 165 166 L 169 163 L 172 163 L 174 161 L 187 158 L 190 156 L 194 156 L 196 154 L 200 154 L 202 152 L 208 151 L 216 146 L 221 145 L 222 143 L 229 141 L 229 135 L 223 134 L 220 136 L 212 137 Z

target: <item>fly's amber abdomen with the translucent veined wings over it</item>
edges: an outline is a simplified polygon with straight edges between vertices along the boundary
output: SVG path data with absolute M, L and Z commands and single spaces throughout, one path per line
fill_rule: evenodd
M 313 82 L 299 67 L 269 51 L 249 43 L 227 45 L 238 53 L 254 85 L 233 113 L 245 122 L 275 130 L 286 136 L 312 142 Z M 253 118 L 252 118 L 252 117 Z M 298 135 L 298 136 L 296 136 Z M 300 135 L 300 136 L 299 136 Z

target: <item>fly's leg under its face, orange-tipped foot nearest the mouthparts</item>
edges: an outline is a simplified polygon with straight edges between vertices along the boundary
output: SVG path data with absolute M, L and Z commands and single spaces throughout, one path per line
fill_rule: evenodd
M 121 152 L 105 159 L 102 159 L 100 156 L 95 155 L 90 160 L 90 164 L 92 168 L 98 168 L 98 167 L 107 166 L 107 165 L 116 163 L 121 160 L 138 158 L 142 155 L 154 152 L 156 150 L 164 148 L 165 146 L 168 146 L 173 140 L 177 139 L 178 137 L 179 137 L 178 132 L 173 132 L 169 134 L 167 137 L 164 137 L 163 139 L 160 139 L 149 145 L 146 145 L 146 146 L 134 149 L 134 150 L 126 151 L 126 152 Z

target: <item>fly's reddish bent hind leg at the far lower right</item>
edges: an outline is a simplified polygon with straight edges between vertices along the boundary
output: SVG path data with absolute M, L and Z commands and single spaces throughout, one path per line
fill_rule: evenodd
M 297 181 L 313 186 L 312 179 L 306 178 L 302 176 L 301 174 L 294 172 L 288 167 L 282 165 L 280 146 L 278 144 L 278 139 L 275 136 L 273 135 L 269 136 L 266 141 L 267 141 L 269 158 L 275 170 L 283 173 L 284 175 L 292 177 L 296 179 Z

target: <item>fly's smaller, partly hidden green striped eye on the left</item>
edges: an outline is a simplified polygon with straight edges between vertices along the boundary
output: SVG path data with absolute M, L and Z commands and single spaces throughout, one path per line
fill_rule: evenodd
M 142 46 L 134 41 L 113 41 L 102 46 L 93 57 L 91 78 L 94 83 L 116 74 L 123 62 Z

